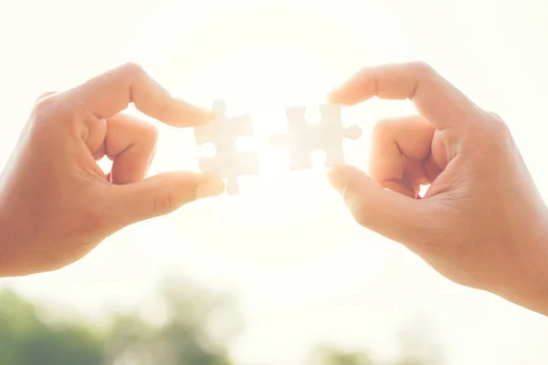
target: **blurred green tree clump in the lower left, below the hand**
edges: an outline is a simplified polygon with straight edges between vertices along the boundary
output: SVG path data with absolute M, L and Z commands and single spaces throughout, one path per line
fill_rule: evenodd
M 0 365 L 231 364 L 226 337 L 215 340 L 208 328 L 212 319 L 223 319 L 215 316 L 219 311 L 236 317 L 227 311 L 227 301 L 183 284 L 165 290 L 161 299 L 167 311 L 163 324 L 148 323 L 138 313 L 122 314 L 112 318 L 110 328 L 99 331 L 49 323 L 40 318 L 36 306 L 4 291 L 0 293 Z

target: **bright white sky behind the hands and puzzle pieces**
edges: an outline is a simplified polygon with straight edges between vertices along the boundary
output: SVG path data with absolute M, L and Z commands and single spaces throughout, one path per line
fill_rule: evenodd
M 542 1 L 0 0 L 0 163 L 42 91 L 66 89 L 137 60 L 175 95 L 227 100 L 251 112 L 261 174 L 220 197 L 113 235 L 56 273 L 4 280 L 26 296 L 94 318 L 135 308 L 164 274 L 237 295 L 246 318 L 232 353 L 241 364 L 298 364 L 319 341 L 389 359 L 400 328 L 431 322 L 446 364 L 538 364 L 548 321 L 497 297 L 457 287 L 401 246 L 353 224 L 322 169 L 289 173 L 264 141 L 292 104 L 318 104 L 356 68 L 422 58 L 510 124 L 542 193 L 548 53 Z M 362 141 L 348 161 L 366 168 L 372 102 L 345 110 Z M 196 169 L 189 130 L 159 126 L 152 173 Z

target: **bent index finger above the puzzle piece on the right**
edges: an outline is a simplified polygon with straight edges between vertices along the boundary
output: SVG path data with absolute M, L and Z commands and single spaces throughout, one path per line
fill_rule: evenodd
M 412 100 L 437 130 L 467 124 L 480 115 L 466 95 L 422 62 L 364 68 L 333 89 L 329 99 L 349 106 L 373 97 Z

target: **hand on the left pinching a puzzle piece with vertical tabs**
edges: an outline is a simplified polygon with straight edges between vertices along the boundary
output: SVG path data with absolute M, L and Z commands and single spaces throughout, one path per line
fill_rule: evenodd
M 157 132 L 121 113 L 131 102 L 174 127 L 213 119 L 133 64 L 38 99 L 0 176 L 0 276 L 67 266 L 128 224 L 223 192 L 220 178 L 192 172 L 142 180 Z M 107 175 L 96 163 L 104 155 Z

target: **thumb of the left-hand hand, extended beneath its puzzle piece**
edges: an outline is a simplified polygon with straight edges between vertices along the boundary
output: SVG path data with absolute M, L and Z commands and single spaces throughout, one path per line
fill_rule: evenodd
M 223 193 L 216 175 L 164 172 L 137 183 L 113 185 L 114 220 L 122 226 L 173 213 L 186 203 Z

